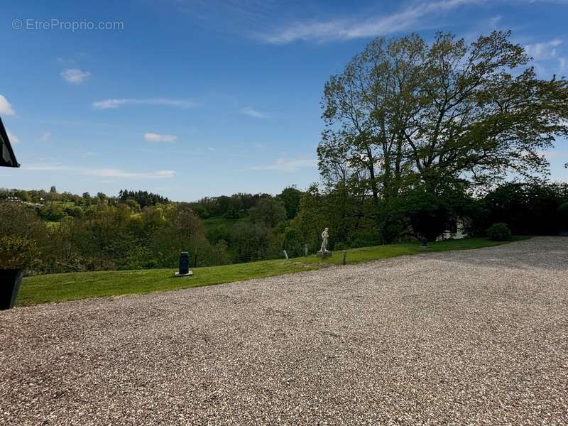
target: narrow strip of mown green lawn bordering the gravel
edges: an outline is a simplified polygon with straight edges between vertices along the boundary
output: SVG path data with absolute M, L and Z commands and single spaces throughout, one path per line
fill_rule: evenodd
M 528 237 L 515 237 L 514 241 Z M 447 250 L 479 249 L 497 246 L 496 241 L 488 239 L 462 239 L 431 243 L 429 249 L 420 249 L 415 244 L 391 244 L 388 246 L 364 247 L 347 251 L 347 263 L 375 261 L 405 254 L 425 253 Z M 342 253 L 321 258 L 312 255 L 301 258 L 278 259 L 251 263 L 239 263 L 226 266 L 194 268 L 192 277 L 174 278 L 173 269 L 151 269 L 145 271 L 104 271 L 85 273 L 59 273 L 38 275 L 23 279 L 17 304 L 20 306 L 36 305 L 45 302 L 61 302 L 89 297 L 103 297 L 129 294 L 143 294 L 155 291 L 178 290 L 230 283 L 231 281 L 263 278 L 299 271 L 325 268 L 342 262 Z

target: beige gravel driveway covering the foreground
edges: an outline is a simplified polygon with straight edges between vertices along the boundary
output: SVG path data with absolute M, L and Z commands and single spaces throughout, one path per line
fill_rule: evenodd
M 0 312 L 0 424 L 568 425 L 567 261 L 546 237 Z

